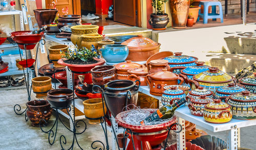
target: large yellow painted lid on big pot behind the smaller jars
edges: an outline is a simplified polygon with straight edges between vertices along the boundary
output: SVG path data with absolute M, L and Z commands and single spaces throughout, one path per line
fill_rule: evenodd
M 231 76 L 219 70 L 217 67 L 209 67 L 209 70 L 194 75 L 193 79 L 206 83 L 226 83 L 233 80 Z

